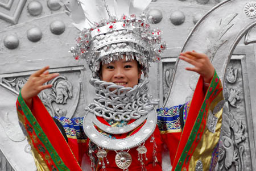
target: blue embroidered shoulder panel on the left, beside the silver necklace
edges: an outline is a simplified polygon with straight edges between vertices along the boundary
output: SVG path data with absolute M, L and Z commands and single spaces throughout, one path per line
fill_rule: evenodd
M 83 117 L 72 118 L 72 119 L 69 119 L 67 117 L 54 117 L 54 118 L 59 120 L 68 137 L 73 137 L 77 139 L 87 139 L 82 127 L 82 122 L 84 119 Z

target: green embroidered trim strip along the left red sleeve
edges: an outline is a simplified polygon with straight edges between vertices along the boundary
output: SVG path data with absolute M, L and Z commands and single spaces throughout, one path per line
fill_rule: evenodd
M 55 149 L 53 148 L 51 142 L 48 140 L 46 134 L 44 134 L 42 128 L 38 124 L 37 120 L 35 119 L 34 115 L 32 115 L 30 109 L 24 102 L 22 95 L 19 93 L 18 101 L 20 103 L 20 106 L 22 107 L 22 111 L 26 115 L 26 118 L 28 122 L 33 126 L 36 136 L 39 138 L 40 141 L 44 144 L 44 146 L 47 148 L 47 151 L 51 155 L 51 159 L 53 162 L 55 162 L 55 165 L 57 166 L 58 170 L 69 170 L 68 167 L 64 164 L 64 162 L 61 160 L 60 156 L 57 154 Z M 31 128 L 32 129 L 32 128 Z M 40 135 L 40 136 L 39 136 Z M 46 149 L 44 149 L 41 145 L 39 148 L 39 151 L 46 152 Z

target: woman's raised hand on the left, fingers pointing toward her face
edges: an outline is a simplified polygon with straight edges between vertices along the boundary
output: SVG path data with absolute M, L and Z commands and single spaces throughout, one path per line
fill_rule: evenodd
M 20 93 L 24 101 L 27 103 L 28 107 L 31 107 L 32 97 L 38 95 L 40 91 L 52 87 L 51 84 L 43 84 L 49 80 L 52 80 L 52 78 L 55 78 L 60 75 L 59 73 L 49 74 L 47 69 L 49 69 L 49 66 L 46 66 L 43 69 L 40 69 L 35 73 L 31 74 L 26 84 L 24 84 L 24 86 L 22 87 Z

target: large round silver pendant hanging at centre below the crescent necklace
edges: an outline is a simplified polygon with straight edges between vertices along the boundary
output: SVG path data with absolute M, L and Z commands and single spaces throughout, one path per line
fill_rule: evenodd
M 127 169 L 131 165 L 131 155 L 127 152 L 118 152 L 115 155 L 115 164 L 120 169 Z

